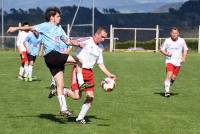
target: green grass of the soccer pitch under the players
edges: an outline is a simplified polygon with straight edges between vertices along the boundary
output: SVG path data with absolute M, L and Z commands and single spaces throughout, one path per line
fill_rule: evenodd
M 97 67 L 95 100 L 87 125 L 59 115 L 57 98 L 48 100 L 50 73 L 43 58 L 33 68 L 37 81 L 16 79 L 19 56 L 0 51 L 0 134 L 199 134 L 200 55 L 191 53 L 182 67 L 173 96 L 161 96 L 164 57 L 155 53 L 105 53 L 107 67 L 117 75 L 111 93 L 100 88 Z M 66 67 L 66 81 L 71 67 Z M 69 84 L 66 82 L 66 85 Z M 67 98 L 77 115 L 84 101 Z

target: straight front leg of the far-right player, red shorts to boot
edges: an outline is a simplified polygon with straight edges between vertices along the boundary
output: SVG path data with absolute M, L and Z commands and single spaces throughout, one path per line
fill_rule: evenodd
M 166 65 L 166 78 L 165 78 L 165 82 L 164 82 L 164 92 L 165 92 L 165 96 L 169 97 L 170 94 L 170 80 L 172 78 L 173 75 L 173 70 L 174 70 L 174 66 L 172 64 L 167 64 Z

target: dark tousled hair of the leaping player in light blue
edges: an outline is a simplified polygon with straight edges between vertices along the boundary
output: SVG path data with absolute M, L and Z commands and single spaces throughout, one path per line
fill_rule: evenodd
M 60 9 L 58 7 L 49 7 L 45 11 L 45 20 L 50 21 L 51 16 L 55 16 L 56 13 L 61 14 Z

